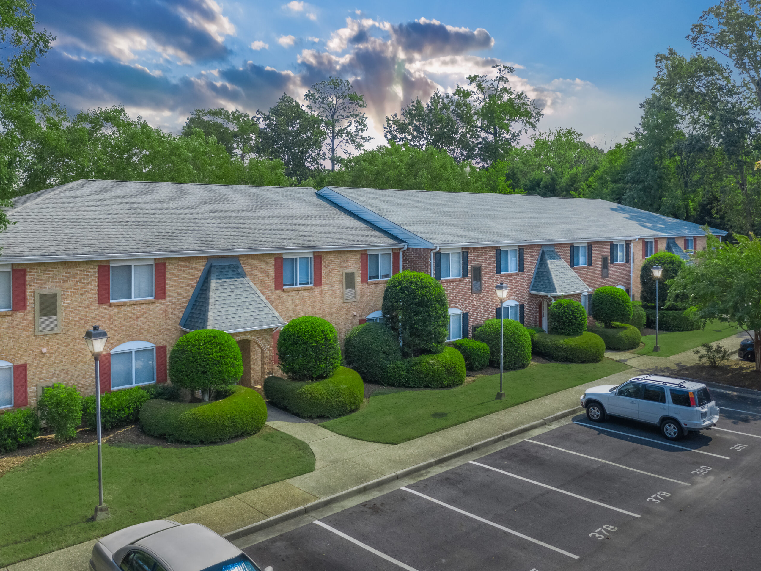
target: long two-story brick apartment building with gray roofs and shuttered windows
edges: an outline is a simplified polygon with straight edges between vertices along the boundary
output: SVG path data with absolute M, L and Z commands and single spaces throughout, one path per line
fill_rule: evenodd
M 342 342 L 381 318 L 400 269 L 441 279 L 456 339 L 498 311 L 543 324 L 553 299 L 586 305 L 600 285 L 636 297 L 644 257 L 705 247 L 697 225 L 601 200 L 476 193 L 78 180 L 16 199 L 8 215 L 0 410 L 54 382 L 91 394 L 82 336 L 93 324 L 110 336 L 106 390 L 166 381 L 171 347 L 203 328 L 231 333 L 241 382 L 260 388 L 288 321 L 323 317 Z

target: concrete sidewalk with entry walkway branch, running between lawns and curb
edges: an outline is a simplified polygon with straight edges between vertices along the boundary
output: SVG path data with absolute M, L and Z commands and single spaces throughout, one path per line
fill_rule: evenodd
M 736 351 L 744 337 L 747 337 L 745 333 L 738 333 L 737 336 L 718 343 Z M 256 524 L 260 522 L 268 525 L 269 522 L 265 520 L 272 518 L 274 524 L 275 516 L 288 515 L 288 512 L 296 512 L 299 508 L 303 508 L 301 512 L 304 512 L 304 509 L 309 509 L 308 506 L 318 500 L 319 505 L 333 499 L 337 501 L 342 493 L 354 493 L 354 490 L 359 493 L 368 483 L 372 485 L 384 477 L 393 477 L 393 474 L 409 471 L 426 462 L 451 457 L 478 443 L 499 439 L 515 429 L 544 423 L 544 419 L 578 407 L 579 397 L 584 390 L 597 384 L 620 384 L 642 372 L 674 375 L 680 368 L 697 362 L 692 350 L 667 358 L 635 355 L 631 352 L 606 352 L 606 356 L 626 362 L 632 368 L 398 445 L 350 439 L 301 419 L 287 422 L 273 419 L 276 417 L 274 414 L 269 415 L 269 426 L 309 444 L 316 461 L 314 471 L 221 499 L 167 519 L 180 523 L 198 522 L 219 534 L 253 526 L 253 533 Z M 288 416 L 290 415 L 284 413 L 277 417 Z M 288 420 L 294 419 L 291 417 Z M 240 537 L 242 533 L 245 531 L 234 535 Z M 93 544 L 94 540 L 87 541 L 14 563 L 8 569 L 0 571 L 86 571 Z

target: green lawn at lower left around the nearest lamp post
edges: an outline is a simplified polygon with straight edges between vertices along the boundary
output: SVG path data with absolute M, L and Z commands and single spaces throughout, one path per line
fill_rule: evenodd
M 97 504 L 96 446 L 53 451 L 0 477 L 0 567 L 313 470 L 309 445 L 269 427 L 199 448 L 103 445 L 111 517 L 88 522 Z

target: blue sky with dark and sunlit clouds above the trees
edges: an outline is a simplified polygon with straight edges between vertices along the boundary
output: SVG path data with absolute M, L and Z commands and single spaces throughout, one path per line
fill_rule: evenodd
M 384 142 L 402 104 L 507 62 L 543 108 L 541 130 L 573 127 L 607 147 L 638 123 L 655 54 L 689 52 L 689 27 L 712 4 L 37 0 L 57 39 L 34 74 L 72 112 L 123 104 L 175 132 L 196 107 L 254 113 L 340 75 Z

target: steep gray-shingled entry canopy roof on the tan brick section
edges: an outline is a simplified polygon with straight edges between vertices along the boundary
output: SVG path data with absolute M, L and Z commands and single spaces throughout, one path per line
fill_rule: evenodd
M 188 301 L 180 327 L 187 330 L 250 331 L 285 325 L 285 321 L 247 278 L 237 258 L 206 262 Z

